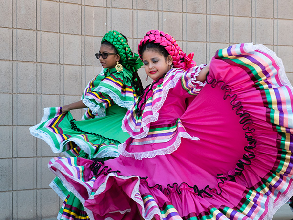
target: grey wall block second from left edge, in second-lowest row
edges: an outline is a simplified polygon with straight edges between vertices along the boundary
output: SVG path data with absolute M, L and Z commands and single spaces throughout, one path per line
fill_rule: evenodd
M 36 158 L 16 158 L 12 163 L 13 190 L 35 189 L 37 187 Z

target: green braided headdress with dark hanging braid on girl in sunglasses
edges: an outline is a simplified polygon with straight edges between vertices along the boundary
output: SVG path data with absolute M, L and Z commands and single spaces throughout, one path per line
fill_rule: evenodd
M 106 33 L 101 41 L 101 44 L 106 44 L 114 49 L 115 53 L 119 54 L 122 66 L 132 73 L 132 82 L 138 96 L 143 93 L 143 84 L 137 70 L 143 66 L 143 62 L 139 59 L 138 54 L 131 51 L 128 44 L 128 39 L 121 33 L 111 30 Z

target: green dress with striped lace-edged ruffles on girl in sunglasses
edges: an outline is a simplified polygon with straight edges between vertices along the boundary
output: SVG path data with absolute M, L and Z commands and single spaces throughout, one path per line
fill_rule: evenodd
M 81 121 L 73 119 L 70 112 L 62 114 L 62 107 L 44 108 L 44 116 L 30 128 L 31 134 L 49 144 L 54 153 L 67 157 L 107 160 L 119 156 L 118 145 L 130 137 L 121 129 L 122 120 L 136 100 L 131 72 L 104 69 L 88 83 L 81 99 L 88 107 Z M 64 201 L 58 219 L 69 218 L 63 215 L 66 207 L 71 209 L 71 218 L 87 219 L 79 199 L 59 178 L 50 186 Z

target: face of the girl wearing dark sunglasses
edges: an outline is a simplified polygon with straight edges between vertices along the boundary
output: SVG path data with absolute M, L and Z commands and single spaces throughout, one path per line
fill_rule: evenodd
M 114 49 L 111 49 L 110 46 L 102 44 L 99 50 L 99 53 L 115 53 Z M 104 69 L 114 68 L 116 66 L 116 62 L 120 60 L 120 56 L 118 54 L 108 55 L 107 58 L 103 58 L 100 56 L 99 61 Z

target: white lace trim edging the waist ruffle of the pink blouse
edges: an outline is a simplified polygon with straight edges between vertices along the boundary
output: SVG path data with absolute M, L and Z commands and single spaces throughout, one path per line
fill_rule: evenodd
M 127 152 L 125 150 L 127 144 L 126 142 L 124 142 L 118 145 L 118 151 L 120 152 L 122 156 L 134 157 L 137 160 L 141 160 L 143 158 L 153 158 L 155 156 L 171 154 L 174 151 L 176 151 L 177 148 L 181 144 L 181 138 L 187 138 L 187 139 L 196 140 L 196 141 L 199 140 L 198 137 L 191 137 L 187 132 L 180 132 L 177 135 L 175 142 L 172 145 L 168 146 L 167 148 L 157 149 L 153 151 L 146 151 L 146 152 Z

